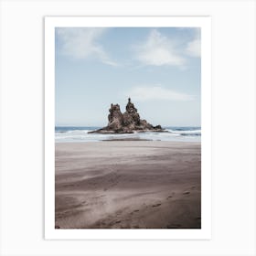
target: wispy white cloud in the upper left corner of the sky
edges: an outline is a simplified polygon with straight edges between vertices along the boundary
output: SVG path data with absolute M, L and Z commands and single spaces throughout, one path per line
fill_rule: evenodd
M 93 57 L 104 64 L 118 66 L 97 42 L 106 30 L 107 28 L 101 27 L 59 27 L 57 28 L 57 36 L 60 52 L 73 59 Z

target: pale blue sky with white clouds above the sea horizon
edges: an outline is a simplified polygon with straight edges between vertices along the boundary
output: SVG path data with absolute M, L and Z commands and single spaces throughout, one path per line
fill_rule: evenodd
M 105 126 L 128 98 L 153 125 L 200 126 L 197 27 L 56 27 L 56 126 Z

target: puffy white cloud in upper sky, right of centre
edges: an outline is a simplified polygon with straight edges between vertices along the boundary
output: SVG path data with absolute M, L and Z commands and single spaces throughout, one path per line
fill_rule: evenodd
M 179 54 L 174 43 L 156 29 L 152 30 L 146 41 L 135 47 L 136 59 L 144 65 L 183 66 L 186 60 Z

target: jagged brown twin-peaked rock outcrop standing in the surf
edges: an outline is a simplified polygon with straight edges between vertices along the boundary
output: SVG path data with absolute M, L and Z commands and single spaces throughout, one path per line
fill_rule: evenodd
M 161 125 L 153 126 L 145 120 L 141 120 L 137 109 L 131 99 L 128 99 L 126 111 L 121 112 L 119 104 L 112 104 L 109 109 L 109 123 L 106 127 L 90 133 L 134 133 L 134 132 L 164 132 Z

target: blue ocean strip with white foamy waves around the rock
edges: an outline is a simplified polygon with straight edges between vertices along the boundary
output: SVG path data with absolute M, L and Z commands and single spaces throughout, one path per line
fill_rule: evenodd
M 174 141 L 174 142 L 200 142 L 201 127 L 163 127 L 168 133 L 126 133 L 126 134 L 100 134 L 88 133 L 100 129 L 101 127 L 75 127 L 57 126 L 55 127 L 56 143 L 81 143 L 81 142 L 101 142 L 114 139 L 143 139 L 152 141 Z

